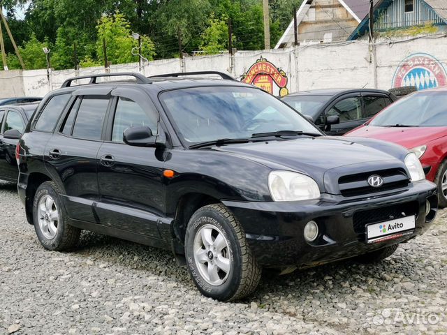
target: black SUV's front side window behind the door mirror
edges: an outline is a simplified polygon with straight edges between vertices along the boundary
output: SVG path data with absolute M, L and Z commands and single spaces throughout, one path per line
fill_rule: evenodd
M 112 141 L 122 142 L 124 131 L 134 126 L 148 126 L 156 134 L 156 121 L 152 121 L 134 101 L 119 98 L 113 121 Z

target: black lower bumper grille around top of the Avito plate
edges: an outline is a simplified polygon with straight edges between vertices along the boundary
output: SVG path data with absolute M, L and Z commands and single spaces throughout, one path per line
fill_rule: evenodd
M 358 234 L 365 233 L 365 225 L 370 223 L 380 223 L 404 218 L 405 216 L 418 215 L 419 203 L 406 202 L 404 204 L 395 204 L 393 206 L 369 209 L 367 211 L 356 211 L 353 216 L 354 231 Z

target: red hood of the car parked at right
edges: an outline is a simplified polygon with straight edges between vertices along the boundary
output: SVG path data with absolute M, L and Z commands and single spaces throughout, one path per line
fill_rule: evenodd
M 400 144 L 407 149 L 427 144 L 447 135 L 447 127 L 379 127 L 364 126 L 351 131 L 346 137 L 369 137 Z

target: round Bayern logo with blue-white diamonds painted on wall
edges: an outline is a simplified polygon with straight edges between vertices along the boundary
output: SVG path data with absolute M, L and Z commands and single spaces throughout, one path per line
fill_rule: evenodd
M 447 84 L 447 73 L 441 62 L 430 54 L 411 54 L 397 67 L 393 87 L 416 86 L 432 89 Z

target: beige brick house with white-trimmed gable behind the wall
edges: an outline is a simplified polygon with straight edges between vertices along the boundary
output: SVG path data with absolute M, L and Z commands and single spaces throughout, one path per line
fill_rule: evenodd
M 303 0 L 296 13 L 298 43 L 344 41 L 368 13 L 369 0 Z M 292 20 L 275 49 L 294 43 Z

